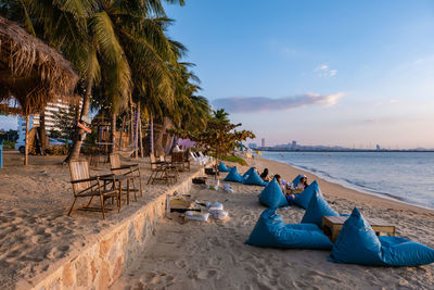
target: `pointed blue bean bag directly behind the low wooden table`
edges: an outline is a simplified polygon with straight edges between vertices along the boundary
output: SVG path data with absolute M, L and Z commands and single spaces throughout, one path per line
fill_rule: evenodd
M 302 224 L 316 224 L 322 228 L 322 217 L 324 215 L 339 215 L 330 205 L 327 203 L 321 194 L 321 191 L 317 191 L 311 197 L 309 205 L 302 218 Z

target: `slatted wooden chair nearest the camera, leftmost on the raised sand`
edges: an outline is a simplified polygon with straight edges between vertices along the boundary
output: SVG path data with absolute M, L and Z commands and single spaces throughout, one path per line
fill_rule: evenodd
M 68 216 L 73 213 L 74 205 L 78 198 L 90 198 L 86 205 L 81 205 L 76 210 L 88 210 L 88 211 L 101 211 L 102 218 L 105 219 L 105 206 L 104 202 L 108 198 L 115 198 L 117 202 L 117 209 L 119 212 L 119 199 L 118 190 L 116 188 L 115 179 L 113 174 L 101 175 L 101 176 L 90 176 L 89 164 L 87 160 L 72 160 L 69 162 L 69 173 L 71 173 L 71 184 L 73 185 L 74 191 L 74 202 L 71 205 Z M 111 189 L 106 189 L 111 186 Z M 94 197 L 100 198 L 101 207 L 92 207 L 90 203 Z

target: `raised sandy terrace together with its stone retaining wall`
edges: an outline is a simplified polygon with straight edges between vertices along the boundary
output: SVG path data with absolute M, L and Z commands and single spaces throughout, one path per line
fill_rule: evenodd
M 88 211 L 69 217 L 74 194 L 62 157 L 30 156 L 33 165 L 23 166 L 20 154 L 5 154 L 0 171 L 2 289 L 106 289 L 155 235 L 166 194 L 187 193 L 191 178 L 203 172 L 192 165 L 174 185 L 143 186 L 143 197 L 129 205 L 124 200 L 120 213 L 112 206 L 106 219 L 101 212 Z M 140 161 L 143 184 L 151 175 L 146 161 Z M 91 173 L 110 174 L 110 164 L 91 167 Z

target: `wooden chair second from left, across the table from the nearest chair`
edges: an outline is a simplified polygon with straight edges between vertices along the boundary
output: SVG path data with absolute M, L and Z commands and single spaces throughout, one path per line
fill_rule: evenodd
M 122 184 L 124 181 L 127 181 L 127 188 L 126 188 L 126 193 L 127 196 L 127 204 L 129 204 L 129 192 L 132 191 L 135 192 L 135 201 L 137 201 L 137 191 L 140 191 L 140 197 L 143 197 L 142 193 L 142 180 L 140 176 L 140 168 L 139 164 L 131 164 L 131 165 L 122 165 L 120 164 L 120 157 L 119 154 L 117 153 L 112 153 L 110 154 L 110 166 L 112 173 L 115 175 L 114 178 L 115 180 L 119 184 L 119 197 L 122 200 L 123 197 L 123 190 L 124 188 L 122 187 Z M 138 180 L 139 182 L 139 189 L 136 189 L 136 182 L 135 180 Z M 131 181 L 132 188 L 129 187 Z

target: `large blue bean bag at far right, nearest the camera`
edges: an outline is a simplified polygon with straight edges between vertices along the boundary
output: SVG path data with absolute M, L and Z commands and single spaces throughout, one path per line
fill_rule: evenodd
M 404 238 L 376 237 L 355 207 L 337 236 L 329 261 L 376 266 L 419 266 L 434 262 L 434 250 Z

